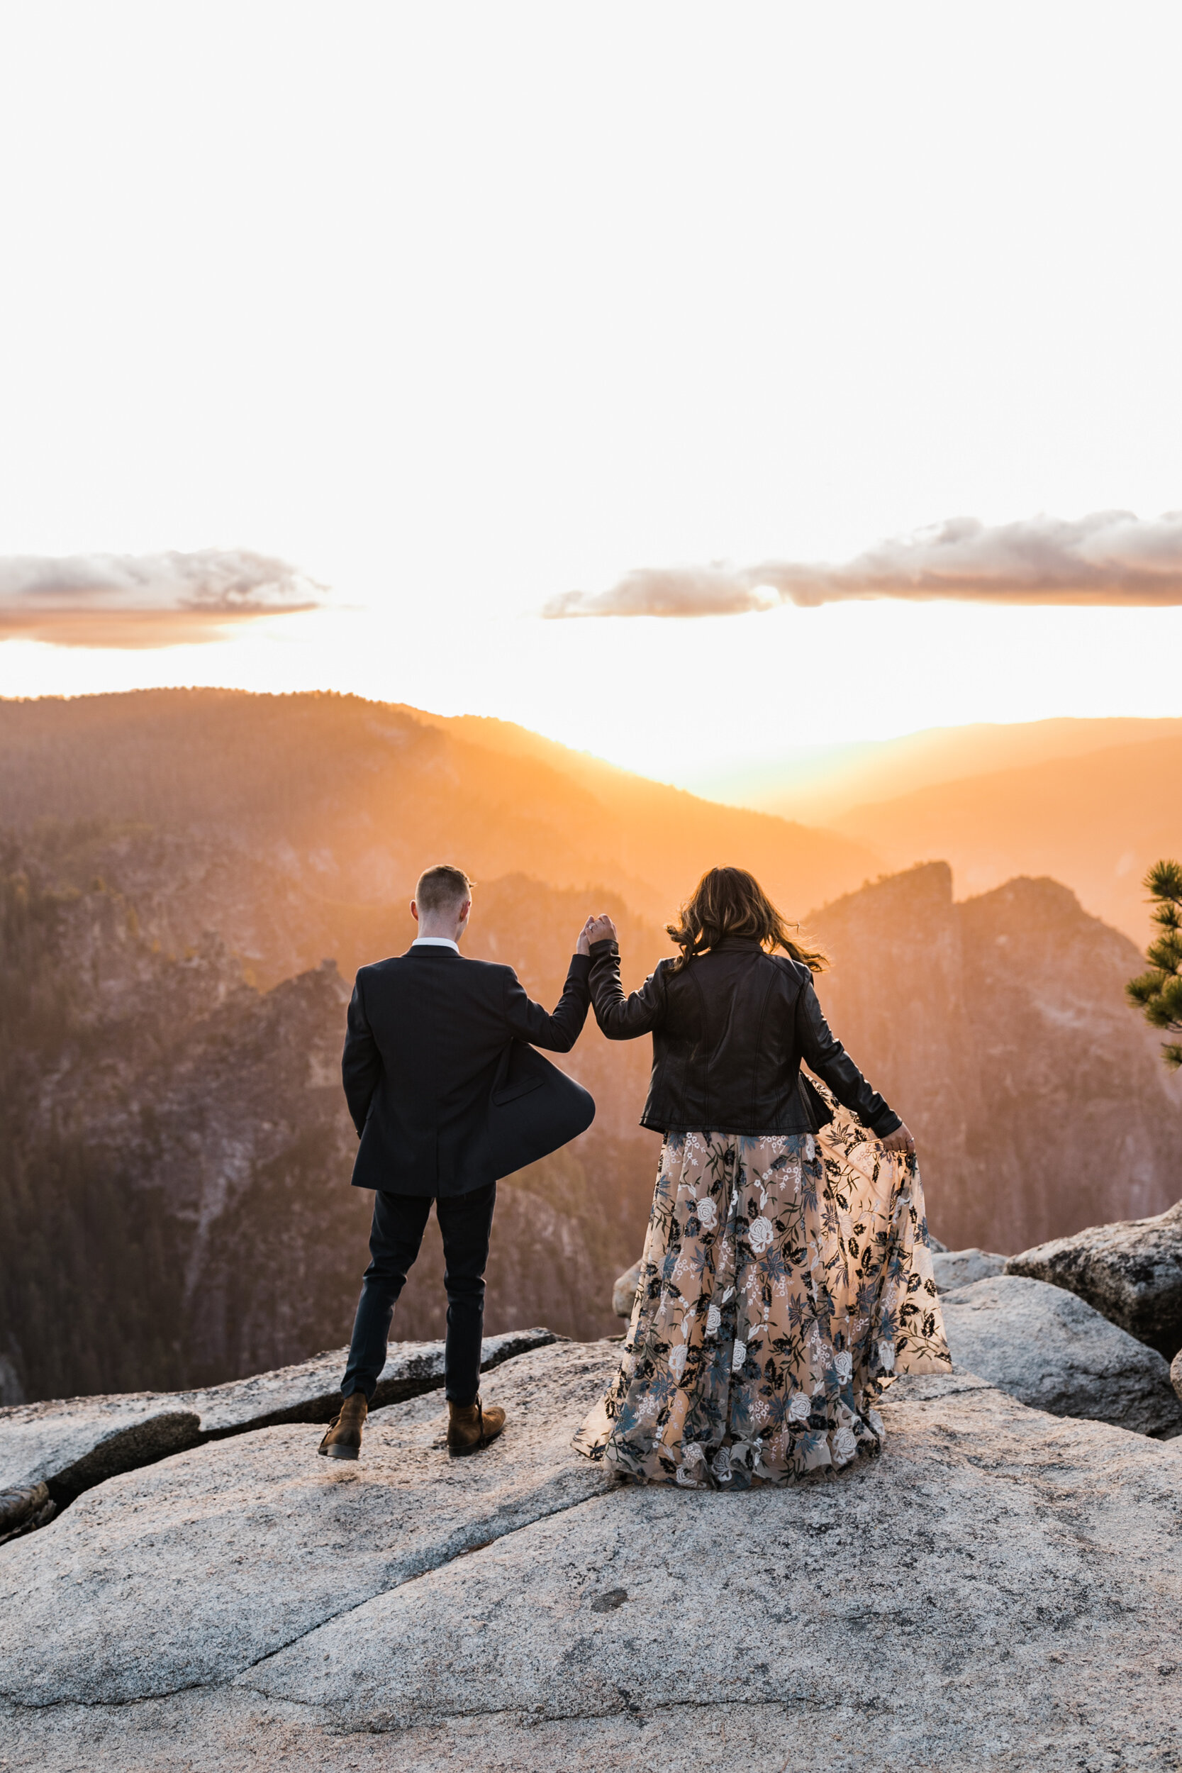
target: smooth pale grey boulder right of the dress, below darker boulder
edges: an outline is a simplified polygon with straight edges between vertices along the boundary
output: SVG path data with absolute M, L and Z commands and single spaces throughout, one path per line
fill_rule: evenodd
M 1170 1367 L 1074 1293 L 1021 1275 L 994 1275 L 945 1293 L 945 1332 L 957 1367 L 1056 1417 L 1115 1422 L 1136 1434 L 1182 1434 Z

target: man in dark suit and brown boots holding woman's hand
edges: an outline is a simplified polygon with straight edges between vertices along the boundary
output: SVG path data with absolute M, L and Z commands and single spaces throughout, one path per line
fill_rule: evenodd
M 579 933 L 553 1016 L 512 966 L 461 957 L 471 881 L 439 865 L 420 876 L 406 954 L 356 975 L 342 1076 L 362 1145 L 354 1188 L 374 1188 L 370 1264 L 353 1324 L 344 1404 L 319 1450 L 356 1459 L 393 1307 L 418 1255 L 431 1202 L 443 1234 L 445 1390 L 450 1454 L 477 1452 L 505 1425 L 480 1402 L 484 1268 L 496 1179 L 581 1133 L 587 1090 L 517 1043 L 569 1053 L 587 1021 L 590 947 Z

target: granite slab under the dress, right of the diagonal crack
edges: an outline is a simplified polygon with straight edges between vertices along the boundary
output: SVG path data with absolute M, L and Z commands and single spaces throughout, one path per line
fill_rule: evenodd
M 675 1711 L 684 1753 L 704 1746 L 700 1716 L 762 1707 L 780 1711 L 780 1768 L 847 1752 L 840 1764 L 875 1769 L 1182 1752 L 1177 1452 L 980 1381 L 921 1390 L 888 1394 L 886 1454 L 836 1482 L 594 1495 L 236 1684 L 392 1732 L 399 1768 L 431 1766 L 432 1743 L 441 1762 L 445 1741 L 478 1766 L 502 1720 L 549 1727 L 562 1766 L 558 1746 L 590 1720 Z M 707 1743 L 709 1764 L 746 1766 L 741 1730 L 730 1752 Z M 539 1743 L 496 1764 L 546 1761 Z

